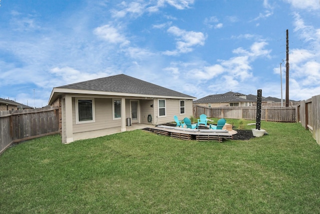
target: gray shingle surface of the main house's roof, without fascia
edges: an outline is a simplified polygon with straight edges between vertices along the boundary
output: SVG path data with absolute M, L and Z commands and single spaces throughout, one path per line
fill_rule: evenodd
M 154 85 L 152 83 L 145 82 L 143 80 L 139 80 L 124 74 L 99 78 L 95 80 L 88 80 L 56 88 L 153 96 L 184 97 L 194 99 L 194 97 L 192 96 L 182 94 L 180 92 L 173 91 L 171 89 L 167 89 L 158 85 Z

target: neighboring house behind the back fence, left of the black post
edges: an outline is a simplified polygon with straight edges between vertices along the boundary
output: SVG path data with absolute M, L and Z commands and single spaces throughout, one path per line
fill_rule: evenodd
M 222 106 L 252 106 L 254 102 L 256 102 L 256 97 L 254 99 L 247 99 L 245 94 L 229 91 L 224 94 L 208 95 L 195 100 L 193 103 L 213 108 Z

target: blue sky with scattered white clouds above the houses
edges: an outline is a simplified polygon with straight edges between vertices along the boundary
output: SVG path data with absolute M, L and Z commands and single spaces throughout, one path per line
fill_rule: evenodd
M 319 0 L 0 0 L 0 97 L 126 74 L 197 97 L 320 94 Z

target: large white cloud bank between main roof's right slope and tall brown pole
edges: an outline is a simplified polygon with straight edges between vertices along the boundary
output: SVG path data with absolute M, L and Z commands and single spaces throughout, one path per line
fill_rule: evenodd
M 176 62 L 171 63 L 171 66 L 166 70 L 179 71 L 180 73 L 183 71 L 183 75 L 179 75 L 178 80 L 184 86 L 184 83 L 192 79 L 192 88 L 196 90 L 190 93 L 196 97 L 231 90 L 254 94 L 257 87 L 254 82 L 257 77 L 253 75 L 251 64 L 256 58 L 268 57 L 270 51 L 266 50 L 265 46 L 267 43 L 264 41 L 253 42 L 248 49 L 237 48 L 233 50 L 233 54 L 236 56 L 227 60 L 218 60 L 216 64 L 207 65 L 208 63 L 205 61 Z M 248 81 L 252 84 L 248 84 Z M 217 85 L 223 85 L 224 88 L 217 88 Z M 185 88 L 183 87 L 183 90 Z

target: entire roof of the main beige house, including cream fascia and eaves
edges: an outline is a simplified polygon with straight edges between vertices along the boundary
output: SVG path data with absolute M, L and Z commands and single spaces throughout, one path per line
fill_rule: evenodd
M 154 85 L 143 80 L 139 80 L 124 74 L 88 80 L 70 85 L 53 88 L 49 103 L 53 102 L 61 93 L 83 93 L 100 95 L 121 95 L 130 94 L 132 96 L 153 96 L 196 99 L 195 97 L 173 91 L 158 85 Z

